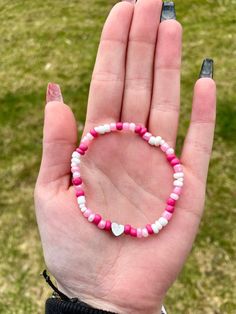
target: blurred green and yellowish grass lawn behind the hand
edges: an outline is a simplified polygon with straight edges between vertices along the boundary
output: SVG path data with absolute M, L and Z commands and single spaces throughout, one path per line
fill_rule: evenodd
M 61 84 L 83 125 L 102 24 L 114 1 L 0 0 L 0 313 L 43 313 L 49 293 L 33 206 L 45 88 Z M 236 313 L 236 1 L 177 0 L 184 27 L 179 144 L 204 57 L 215 60 L 218 117 L 206 210 L 169 313 Z

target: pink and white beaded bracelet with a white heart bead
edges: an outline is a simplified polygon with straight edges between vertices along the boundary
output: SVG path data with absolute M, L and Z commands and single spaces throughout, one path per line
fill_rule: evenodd
M 147 224 L 144 228 L 134 228 L 130 224 L 122 225 L 110 220 L 104 220 L 101 215 L 95 214 L 91 209 L 86 207 L 85 193 L 82 187 L 82 178 L 80 175 L 80 159 L 85 155 L 90 143 L 99 135 L 107 134 L 116 131 L 131 131 L 140 136 L 151 146 L 160 147 L 166 155 L 166 159 L 173 167 L 174 181 L 173 191 L 167 199 L 165 211 L 161 217 L 153 224 Z M 151 234 L 157 234 L 163 227 L 165 227 L 171 219 L 175 210 L 175 203 L 179 199 L 181 190 L 184 184 L 183 167 L 179 159 L 176 157 L 174 149 L 171 148 L 160 136 L 153 136 L 147 129 L 141 125 L 128 122 L 117 122 L 97 126 L 90 130 L 81 140 L 79 147 L 73 152 L 71 159 L 72 183 L 75 187 L 77 202 L 80 210 L 85 218 L 99 229 L 111 231 L 116 237 L 125 234 L 132 237 L 142 238 L 148 237 Z

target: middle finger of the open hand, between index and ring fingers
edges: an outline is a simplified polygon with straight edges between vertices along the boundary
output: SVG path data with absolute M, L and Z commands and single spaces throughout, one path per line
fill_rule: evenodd
M 135 5 L 127 53 L 123 121 L 147 122 L 161 7 L 160 0 L 139 0 Z

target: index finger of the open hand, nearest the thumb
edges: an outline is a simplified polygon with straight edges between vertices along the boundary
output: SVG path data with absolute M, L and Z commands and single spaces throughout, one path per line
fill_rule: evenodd
M 90 85 L 87 129 L 100 122 L 120 120 L 126 49 L 133 9 L 131 3 L 117 3 L 105 22 Z

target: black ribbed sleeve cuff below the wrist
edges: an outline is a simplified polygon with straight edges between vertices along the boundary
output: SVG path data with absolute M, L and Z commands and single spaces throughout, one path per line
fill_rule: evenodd
M 46 301 L 45 314 L 116 314 L 86 306 L 83 302 L 62 301 L 49 298 Z

